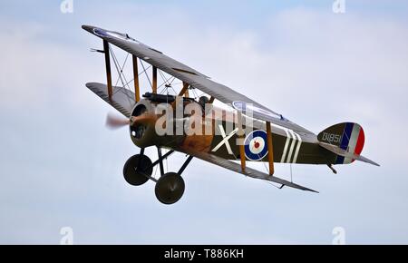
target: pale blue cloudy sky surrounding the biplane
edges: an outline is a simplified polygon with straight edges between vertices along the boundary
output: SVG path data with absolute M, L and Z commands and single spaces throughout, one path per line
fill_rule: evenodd
M 346 244 L 408 243 L 406 1 L 346 0 L 343 14 L 331 0 L 73 0 L 67 14 L 62 2 L 0 2 L 0 244 L 60 244 L 63 228 L 74 244 L 332 244 L 339 228 Z M 126 32 L 310 131 L 358 122 L 381 167 L 293 165 L 313 194 L 193 160 L 183 198 L 164 206 L 153 182 L 123 180 L 139 149 L 105 128 L 114 110 L 84 86 L 105 74 L 82 24 Z

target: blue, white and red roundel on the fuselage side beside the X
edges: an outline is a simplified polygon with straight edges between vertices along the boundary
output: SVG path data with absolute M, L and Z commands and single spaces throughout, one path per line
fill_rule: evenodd
M 259 161 L 267 156 L 267 132 L 257 130 L 245 139 L 245 155 L 250 161 Z

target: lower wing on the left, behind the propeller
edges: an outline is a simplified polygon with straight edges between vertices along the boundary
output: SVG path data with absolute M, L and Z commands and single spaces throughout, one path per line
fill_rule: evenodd
M 126 117 L 131 117 L 131 111 L 136 104 L 134 93 L 122 87 L 112 87 L 112 100 L 108 96 L 108 87 L 102 83 L 86 83 L 86 87 L 98 95 L 103 101 L 108 102 L 118 112 Z

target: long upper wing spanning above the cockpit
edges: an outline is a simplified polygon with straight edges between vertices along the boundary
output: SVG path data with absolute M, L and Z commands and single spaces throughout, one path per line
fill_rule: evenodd
M 151 48 L 146 44 L 142 44 L 131 38 L 128 34 L 121 34 L 90 25 L 83 25 L 83 29 L 118 46 L 130 54 L 136 55 L 147 63 L 151 63 L 151 65 L 159 68 L 161 71 L 169 73 L 185 83 L 189 83 L 192 87 L 197 88 L 204 93 L 208 93 L 220 102 L 232 104 L 236 110 L 241 111 L 244 114 L 248 112 L 247 105 L 250 105 L 251 114 L 255 119 L 272 122 L 298 132 L 312 133 L 293 122 L 289 122 L 287 119 L 283 118 L 282 115 L 269 110 L 267 107 L 249 99 L 247 96 L 237 93 L 225 85 L 215 83 L 211 81 L 208 76 L 162 54 L 160 51 Z

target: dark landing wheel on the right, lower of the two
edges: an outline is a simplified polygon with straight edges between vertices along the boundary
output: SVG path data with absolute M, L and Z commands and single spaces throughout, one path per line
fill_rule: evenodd
M 156 198 L 165 205 L 171 205 L 181 199 L 185 189 L 184 180 L 175 172 L 166 173 L 156 183 Z

